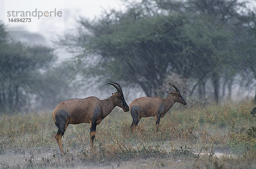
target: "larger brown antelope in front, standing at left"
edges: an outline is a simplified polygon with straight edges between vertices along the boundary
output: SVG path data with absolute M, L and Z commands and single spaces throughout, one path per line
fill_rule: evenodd
M 107 99 L 100 100 L 93 96 L 85 99 L 70 99 L 61 102 L 53 110 L 52 118 L 58 127 L 55 138 L 61 155 L 64 155 L 61 138 L 68 124 L 90 123 L 90 147 L 93 148 L 96 125 L 100 124 L 116 106 L 121 107 L 125 112 L 129 111 L 129 107 L 122 93 L 122 87 L 119 83 L 111 81 L 107 83 L 113 85 L 117 90 L 116 93 L 112 93 L 112 96 Z

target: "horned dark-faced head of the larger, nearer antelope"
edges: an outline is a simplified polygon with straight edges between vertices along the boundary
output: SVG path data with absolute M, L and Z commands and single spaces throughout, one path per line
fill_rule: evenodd
M 120 108 L 122 108 L 122 110 L 124 110 L 124 112 L 128 112 L 129 111 L 129 106 L 125 101 L 125 97 L 124 94 L 122 93 L 122 87 L 121 85 L 119 85 L 119 83 L 116 82 L 107 82 L 109 85 L 112 85 L 113 87 L 116 88 L 117 92 L 116 93 L 112 93 L 112 96 L 109 97 L 109 99 L 113 99 L 114 100 L 114 104 Z

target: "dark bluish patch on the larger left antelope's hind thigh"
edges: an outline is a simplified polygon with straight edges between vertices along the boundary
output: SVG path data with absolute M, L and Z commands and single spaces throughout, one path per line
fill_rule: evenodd
M 65 110 L 59 110 L 58 113 L 55 115 L 56 119 L 56 126 L 58 127 L 57 134 L 64 135 L 65 132 L 65 125 L 67 122 L 67 119 L 69 118 L 69 114 Z

